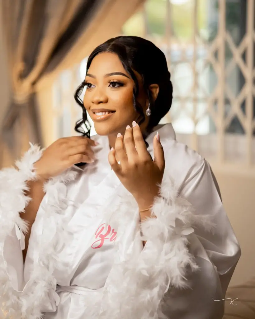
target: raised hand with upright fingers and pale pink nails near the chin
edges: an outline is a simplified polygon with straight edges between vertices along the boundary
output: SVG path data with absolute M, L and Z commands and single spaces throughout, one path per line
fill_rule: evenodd
M 151 159 L 140 127 L 136 124 L 133 129 L 126 129 L 124 137 L 121 135 L 116 138 L 115 149 L 108 155 L 113 171 L 123 186 L 135 197 L 141 210 L 153 204 L 154 197 L 158 195 L 158 184 L 161 184 L 164 174 L 164 150 L 156 136 L 153 139 L 153 148 L 154 160 Z

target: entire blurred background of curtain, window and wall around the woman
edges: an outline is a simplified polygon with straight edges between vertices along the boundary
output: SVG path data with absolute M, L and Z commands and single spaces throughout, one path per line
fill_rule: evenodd
M 29 141 L 47 147 L 60 137 L 76 135 L 74 125 L 82 114 L 73 94 L 84 79 L 87 56 L 117 35 L 144 37 L 162 49 L 171 72 L 174 98 L 161 123 L 172 122 L 177 140 L 211 164 L 240 242 L 242 256 L 230 286 L 251 280 L 254 2 L 2 0 L 0 167 L 12 165 Z

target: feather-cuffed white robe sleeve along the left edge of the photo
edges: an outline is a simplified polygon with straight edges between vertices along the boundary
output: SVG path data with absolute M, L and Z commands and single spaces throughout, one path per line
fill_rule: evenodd
M 37 145 L 24 154 L 16 167 L 0 171 L 0 317 L 4 314 L 12 318 L 39 318 L 41 305 L 33 301 L 34 283 L 24 280 L 24 262 L 22 250 L 25 249 L 26 222 L 20 217 L 31 200 L 25 196 L 28 190 L 26 182 L 36 180 L 33 163 L 40 159 L 43 149 Z M 54 285 L 53 285 L 54 286 Z M 33 289 L 33 290 L 32 290 Z M 53 289 L 54 290 L 54 289 Z M 47 292 L 46 304 L 55 292 Z M 41 293 L 42 294 L 42 293 Z M 53 299 L 53 298 L 51 298 Z M 29 302 L 31 301 L 31 303 Z M 33 305 L 32 305 L 33 303 Z M 33 307 L 31 311 L 27 307 Z M 55 311 L 56 303 L 50 302 L 46 308 Z M 30 315 L 28 315 L 28 313 Z

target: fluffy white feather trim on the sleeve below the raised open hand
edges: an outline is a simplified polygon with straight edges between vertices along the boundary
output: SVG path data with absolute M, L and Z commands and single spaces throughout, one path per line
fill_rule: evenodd
M 119 233 L 125 234 L 132 201 L 128 194 L 121 198 L 120 227 L 123 230 Z M 179 197 L 178 189 L 167 172 L 151 214 L 156 218 L 148 218 L 141 223 L 143 236 L 137 230 L 133 247 L 126 251 L 125 256 L 125 248 L 119 241 L 117 259 L 107 279 L 100 319 L 167 319 L 161 311 L 164 294 L 171 287 L 189 287 L 185 278 L 187 267 L 192 271 L 199 270 L 188 250 L 188 235 L 194 232 L 196 225 L 202 224 L 212 231 L 215 224 L 210 215 L 194 215 L 191 205 Z M 147 242 L 141 251 L 137 247 L 142 240 Z M 118 260 L 119 256 L 124 257 Z

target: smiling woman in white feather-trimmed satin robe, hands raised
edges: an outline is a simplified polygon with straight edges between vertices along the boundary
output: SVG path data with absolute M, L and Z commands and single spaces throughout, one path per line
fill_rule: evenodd
M 3 314 L 221 318 L 240 247 L 207 161 L 158 125 L 172 101 L 164 54 L 110 39 L 75 97 L 84 136 L 31 145 L 0 175 Z

